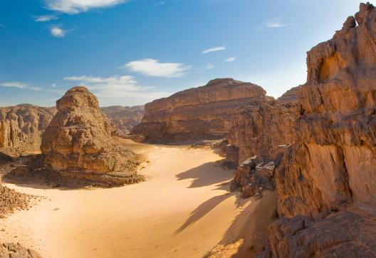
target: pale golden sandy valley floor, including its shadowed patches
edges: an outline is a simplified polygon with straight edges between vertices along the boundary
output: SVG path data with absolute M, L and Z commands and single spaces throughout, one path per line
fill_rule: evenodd
M 0 240 L 43 257 L 249 257 L 261 248 L 276 197 L 229 192 L 233 170 L 213 150 L 127 143 L 150 160 L 148 180 L 111 189 L 11 185 L 46 199 L 0 220 Z

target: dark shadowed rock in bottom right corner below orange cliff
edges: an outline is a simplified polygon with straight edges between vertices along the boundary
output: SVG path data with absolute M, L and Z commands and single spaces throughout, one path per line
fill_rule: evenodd
M 280 219 L 258 257 L 376 257 L 376 217 L 362 210 Z

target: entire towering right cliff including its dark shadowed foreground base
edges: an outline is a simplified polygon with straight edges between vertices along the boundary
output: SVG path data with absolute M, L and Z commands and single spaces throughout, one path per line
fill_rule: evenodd
M 375 65 L 369 3 L 308 52 L 295 143 L 276 171 L 282 218 L 263 257 L 375 257 Z

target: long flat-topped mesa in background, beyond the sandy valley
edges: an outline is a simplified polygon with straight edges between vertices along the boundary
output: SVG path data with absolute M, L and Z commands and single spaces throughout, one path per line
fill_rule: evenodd
M 145 135 L 149 141 L 224 138 L 239 110 L 263 98 L 265 91 L 260 86 L 215 79 L 206 86 L 147 103 L 142 123 L 132 133 Z

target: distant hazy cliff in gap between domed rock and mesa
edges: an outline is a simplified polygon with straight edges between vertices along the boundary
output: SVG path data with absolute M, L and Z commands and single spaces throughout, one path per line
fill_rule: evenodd
M 141 123 L 145 113 L 143 105 L 135 105 L 133 107 L 122 107 L 113 105 L 106 108 L 100 108 L 105 115 L 112 120 L 120 135 L 128 135 L 135 125 Z

